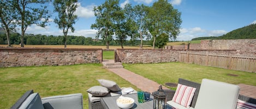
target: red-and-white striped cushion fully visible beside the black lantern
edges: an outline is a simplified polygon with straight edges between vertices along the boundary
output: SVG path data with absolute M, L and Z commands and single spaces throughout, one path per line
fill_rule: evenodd
M 189 87 L 185 85 L 178 84 L 177 90 L 172 98 L 172 101 L 180 104 L 181 106 L 189 108 L 191 101 L 195 93 L 194 87 Z

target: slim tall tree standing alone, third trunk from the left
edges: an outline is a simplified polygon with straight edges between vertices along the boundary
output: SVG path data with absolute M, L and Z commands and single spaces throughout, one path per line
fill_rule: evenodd
M 73 24 L 75 24 L 78 16 L 75 15 L 75 10 L 78 8 L 78 0 L 55 0 L 53 2 L 54 11 L 58 12 L 58 17 L 54 22 L 58 24 L 58 28 L 62 29 L 64 34 L 64 48 L 67 48 L 68 30 L 72 33 L 75 31 Z

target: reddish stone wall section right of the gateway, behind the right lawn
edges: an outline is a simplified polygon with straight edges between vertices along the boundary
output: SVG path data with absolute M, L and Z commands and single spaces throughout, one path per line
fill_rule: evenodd
M 179 51 L 170 49 L 117 49 L 123 63 L 159 63 L 178 61 Z

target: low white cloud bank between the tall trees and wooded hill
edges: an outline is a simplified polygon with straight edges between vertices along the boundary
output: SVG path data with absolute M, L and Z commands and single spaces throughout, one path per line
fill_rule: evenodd
M 195 37 L 205 37 L 205 36 L 221 36 L 226 34 L 225 30 L 205 30 L 200 27 L 194 28 L 182 28 L 180 29 L 180 34 L 177 36 L 177 41 L 190 41 Z

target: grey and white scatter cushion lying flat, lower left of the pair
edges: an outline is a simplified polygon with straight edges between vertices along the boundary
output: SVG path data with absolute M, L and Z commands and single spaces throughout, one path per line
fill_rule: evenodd
M 109 93 L 109 89 L 102 86 L 93 86 L 89 89 L 87 89 L 87 92 L 96 96 L 96 97 L 102 97 Z

